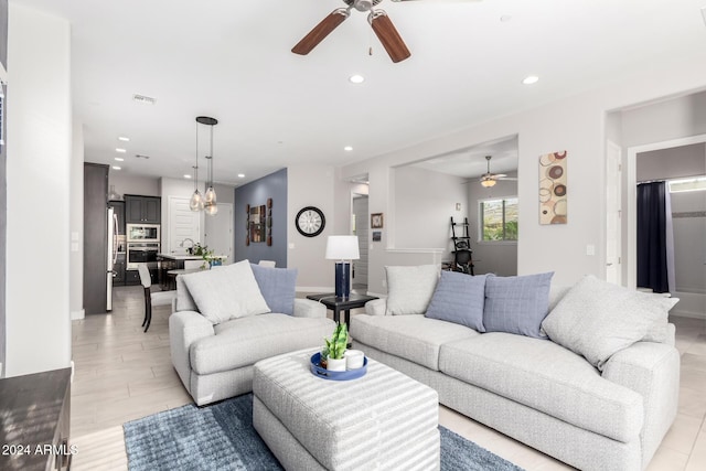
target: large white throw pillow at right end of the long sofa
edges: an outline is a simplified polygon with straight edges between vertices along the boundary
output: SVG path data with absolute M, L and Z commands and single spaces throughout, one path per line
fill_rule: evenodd
M 542 328 L 554 342 L 602 371 L 616 352 L 642 340 L 655 323 L 666 324 L 676 301 L 587 276 L 556 304 Z

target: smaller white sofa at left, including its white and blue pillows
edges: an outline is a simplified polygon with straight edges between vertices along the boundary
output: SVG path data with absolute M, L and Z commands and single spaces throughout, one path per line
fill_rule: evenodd
M 176 277 L 172 364 L 199 406 L 249 393 L 255 363 L 331 335 L 325 307 L 295 298 L 296 278 L 247 260 Z

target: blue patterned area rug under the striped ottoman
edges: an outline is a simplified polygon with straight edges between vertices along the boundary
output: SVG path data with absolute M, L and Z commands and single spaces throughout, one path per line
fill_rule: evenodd
M 122 428 L 130 471 L 282 469 L 253 427 L 252 394 L 201 408 L 190 404 Z M 447 428 L 439 430 L 445 471 L 522 471 Z

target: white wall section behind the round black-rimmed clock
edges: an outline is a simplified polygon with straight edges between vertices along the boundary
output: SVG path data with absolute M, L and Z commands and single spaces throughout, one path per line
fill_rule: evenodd
M 347 183 L 346 183 L 347 186 Z M 345 192 L 334 192 L 334 170 L 324 165 L 292 165 L 287 168 L 287 267 L 298 268 L 297 289 L 301 291 L 327 291 L 334 288 L 334 260 L 324 258 L 327 237 L 347 234 L 347 228 L 338 227 L 336 207 L 347 207 L 343 202 Z M 335 197 L 334 197 L 335 195 Z M 295 226 L 295 216 L 304 206 L 317 206 L 323 212 L 327 225 L 317 237 L 304 237 Z M 340 211 L 340 210 L 339 210 Z M 340 220 L 343 221 L 343 220 Z

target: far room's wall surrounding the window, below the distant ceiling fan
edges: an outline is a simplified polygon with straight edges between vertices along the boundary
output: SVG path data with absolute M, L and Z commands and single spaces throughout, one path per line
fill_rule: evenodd
M 515 176 L 515 173 L 509 175 Z M 517 182 L 499 180 L 495 186 L 483 188 L 479 181 L 468 183 L 468 213 L 471 224 L 471 248 L 475 275 L 495 274 L 502 277 L 517 275 L 517 243 L 516 242 L 482 242 L 479 240 L 479 207 L 480 200 L 517 196 Z M 522 227 L 520 227 L 522 237 Z

